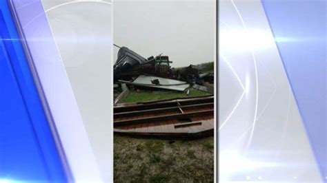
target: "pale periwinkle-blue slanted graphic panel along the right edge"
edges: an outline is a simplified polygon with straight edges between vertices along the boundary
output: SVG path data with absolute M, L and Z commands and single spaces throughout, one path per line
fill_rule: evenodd
M 327 1 L 262 0 L 311 147 L 327 181 Z

